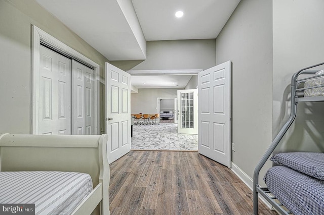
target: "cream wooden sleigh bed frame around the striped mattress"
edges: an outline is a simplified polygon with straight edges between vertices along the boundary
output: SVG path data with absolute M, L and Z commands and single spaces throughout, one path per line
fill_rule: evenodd
M 0 171 L 88 173 L 93 191 L 72 214 L 109 215 L 108 135 L 0 135 Z

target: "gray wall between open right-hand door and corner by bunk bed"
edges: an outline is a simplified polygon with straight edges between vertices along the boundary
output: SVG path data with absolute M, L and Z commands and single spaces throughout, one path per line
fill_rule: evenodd
M 239 3 L 216 39 L 216 63 L 228 60 L 232 61 L 232 162 L 252 178 L 272 141 L 271 1 Z

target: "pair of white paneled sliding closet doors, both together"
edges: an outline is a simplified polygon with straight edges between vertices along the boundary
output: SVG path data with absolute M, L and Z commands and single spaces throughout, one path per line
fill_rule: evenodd
M 94 134 L 94 70 L 42 45 L 39 54 L 37 134 Z

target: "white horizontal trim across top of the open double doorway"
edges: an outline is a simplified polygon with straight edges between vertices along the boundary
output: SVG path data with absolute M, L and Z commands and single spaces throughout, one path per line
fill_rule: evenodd
M 201 69 L 191 70 L 127 70 L 131 75 L 198 75 Z

